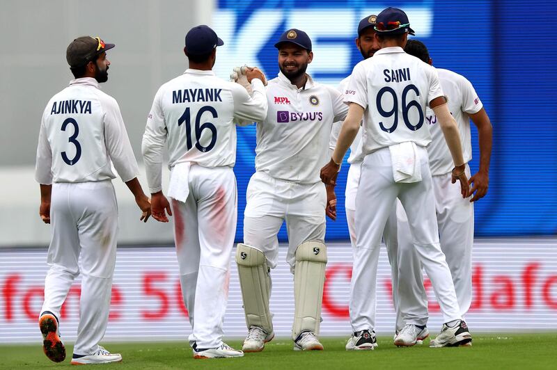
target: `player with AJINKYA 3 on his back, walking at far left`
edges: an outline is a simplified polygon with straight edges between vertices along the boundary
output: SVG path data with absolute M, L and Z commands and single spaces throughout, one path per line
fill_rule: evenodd
M 122 360 L 120 354 L 99 346 L 109 319 L 116 264 L 118 205 L 111 163 L 134 194 L 143 211 L 141 219 L 150 216 L 120 108 L 99 87 L 108 79 L 106 51 L 113 47 L 91 36 L 70 43 L 66 59 L 75 79 L 50 99 L 40 124 L 35 178 L 40 184 L 40 217 L 52 223 L 52 239 L 39 327 L 43 351 L 54 362 L 65 359 L 58 318 L 80 272 L 79 326 L 72 364 Z

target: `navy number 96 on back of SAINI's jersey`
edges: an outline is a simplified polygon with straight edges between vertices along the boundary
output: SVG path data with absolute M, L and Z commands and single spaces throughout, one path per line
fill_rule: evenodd
M 405 122 L 406 127 L 411 129 L 412 131 L 416 131 L 423 125 L 423 111 L 420 103 L 417 100 L 411 99 L 409 103 L 406 102 L 408 93 L 410 91 L 414 91 L 414 93 L 416 93 L 416 96 L 420 96 L 420 92 L 414 84 L 408 85 L 405 87 L 404 90 L 402 90 L 402 120 Z M 393 97 L 393 109 L 391 109 L 391 111 L 385 111 L 383 109 L 383 106 L 381 105 L 381 99 L 385 93 L 389 93 Z M 395 131 L 398 125 L 398 98 L 396 96 L 395 90 L 393 88 L 390 88 L 389 86 L 382 88 L 381 90 L 379 90 L 379 93 L 377 93 L 377 99 L 375 102 L 377 104 L 377 111 L 384 118 L 389 118 L 394 115 L 393 124 L 391 125 L 391 127 L 385 127 L 383 122 L 379 122 L 379 127 L 381 127 L 381 129 L 386 133 L 390 134 L 391 132 Z M 418 123 L 416 123 L 415 125 L 410 122 L 410 119 L 408 117 L 408 112 L 410 111 L 410 108 L 412 106 L 418 109 L 419 114 Z

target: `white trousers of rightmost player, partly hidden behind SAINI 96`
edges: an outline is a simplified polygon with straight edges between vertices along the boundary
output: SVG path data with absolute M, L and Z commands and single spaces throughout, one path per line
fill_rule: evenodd
M 466 165 L 466 176 L 470 168 Z M 462 199 L 460 184 L 451 184 L 451 175 L 433 176 L 433 193 L 439 240 L 450 274 L 453 277 L 460 314 L 464 316 L 472 302 L 472 246 L 474 208 L 470 198 Z M 409 225 L 404 210 L 398 209 L 399 294 L 400 314 L 405 323 L 427 324 L 427 295 L 423 287 L 421 263 L 409 238 Z

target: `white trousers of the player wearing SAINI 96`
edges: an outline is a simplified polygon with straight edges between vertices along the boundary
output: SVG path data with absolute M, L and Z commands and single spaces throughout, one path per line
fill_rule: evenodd
M 439 246 L 427 150 L 417 147 L 417 153 L 422 181 L 414 183 L 394 181 L 388 147 L 368 154 L 363 160 L 356 195 L 356 250 L 350 291 L 350 323 L 354 332 L 375 327 L 379 248 L 396 198 L 408 215 L 413 243 L 432 281 L 445 322 L 461 318 L 453 280 Z M 371 314 L 361 311 L 361 307 L 366 307 L 363 300 L 370 300 Z

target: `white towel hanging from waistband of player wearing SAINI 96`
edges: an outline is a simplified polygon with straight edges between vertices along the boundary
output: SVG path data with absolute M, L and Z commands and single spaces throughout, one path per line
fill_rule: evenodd
M 417 149 L 413 141 L 405 141 L 389 147 L 395 182 L 422 181 L 421 163 Z

